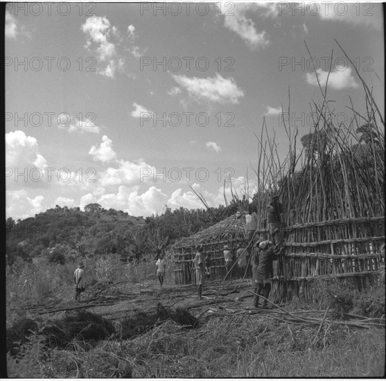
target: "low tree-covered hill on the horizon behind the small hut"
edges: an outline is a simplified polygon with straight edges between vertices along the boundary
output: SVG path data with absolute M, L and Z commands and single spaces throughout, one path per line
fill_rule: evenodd
M 65 263 L 70 258 L 98 254 L 139 259 L 227 218 L 237 209 L 235 202 L 227 208 L 171 211 L 166 207 L 161 215 L 143 218 L 99 204 L 89 204 L 85 211 L 57 205 L 34 218 L 6 220 L 7 263 L 12 265 L 17 257 L 32 260 L 40 256 Z

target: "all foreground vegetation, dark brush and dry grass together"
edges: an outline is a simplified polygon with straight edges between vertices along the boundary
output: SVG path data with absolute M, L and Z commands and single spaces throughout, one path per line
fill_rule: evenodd
M 107 263 L 103 268 L 109 268 Z M 294 315 L 304 310 L 323 312 L 330 308 L 328 324 L 310 324 L 303 313 L 299 315 L 304 317 L 303 322 L 286 320 L 285 314 L 274 313 L 278 309 L 256 313 L 250 309 L 249 302 L 246 308 L 236 305 L 234 310 L 229 310 L 231 301 L 226 302 L 224 308 L 203 305 L 194 316 L 183 309 L 173 313 L 158 309 L 157 314 L 152 315 L 118 319 L 113 314 L 110 319 L 103 319 L 103 315 L 114 310 L 111 306 L 99 308 L 98 315 L 80 310 L 31 319 L 24 306 L 14 299 L 8 303 L 8 331 L 15 333 L 17 327 L 19 330 L 24 327 L 28 337 L 19 337 L 18 348 L 8 353 L 8 376 L 336 378 L 384 375 L 384 287 L 374 283 L 374 287 L 362 293 L 331 281 L 320 281 L 315 287 L 318 292 L 313 302 L 292 301 L 283 307 Z M 163 303 L 164 295 L 166 293 L 155 298 Z M 46 294 L 44 298 L 51 297 L 51 303 L 55 303 L 58 296 Z M 62 294 L 62 297 L 70 296 Z M 157 302 L 153 304 L 152 308 L 157 308 Z M 362 317 L 362 322 L 350 324 L 341 312 L 356 314 Z M 317 314 L 317 321 L 321 322 L 323 315 Z M 372 323 L 373 318 L 383 323 Z

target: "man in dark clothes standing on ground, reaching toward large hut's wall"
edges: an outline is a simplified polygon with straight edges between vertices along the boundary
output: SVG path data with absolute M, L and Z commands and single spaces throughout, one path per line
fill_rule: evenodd
M 254 299 L 254 306 L 258 308 L 258 296 L 262 295 L 265 299 L 268 299 L 271 291 L 271 276 L 273 274 L 272 262 L 279 258 L 279 254 L 284 249 L 281 249 L 275 253 L 273 249 L 270 248 L 270 241 L 263 241 L 258 244 L 258 247 L 261 251 L 258 253 L 258 266 L 256 269 L 256 280 L 257 291 Z M 263 291 L 263 294 L 261 292 Z M 262 308 L 267 308 L 267 301 L 263 301 Z

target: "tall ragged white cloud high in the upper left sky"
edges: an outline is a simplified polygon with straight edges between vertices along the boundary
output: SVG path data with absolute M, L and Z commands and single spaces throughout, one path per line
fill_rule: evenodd
M 111 26 L 106 17 L 92 16 L 86 19 L 80 29 L 87 36 L 85 48 L 93 47 L 99 62 L 106 63 L 105 68 L 98 73 L 114 78 L 116 70 L 123 69 L 124 66 L 123 58 L 116 52 L 116 44 L 111 41 L 112 37 L 119 37 L 117 28 Z

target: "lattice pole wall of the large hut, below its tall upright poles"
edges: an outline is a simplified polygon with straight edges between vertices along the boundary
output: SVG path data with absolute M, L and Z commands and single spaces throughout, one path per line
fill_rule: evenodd
M 317 278 L 346 278 L 357 290 L 378 275 L 385 217 L 314 222 L 283 229 L 285 254 L 274 262 L 272 296 L 311 299 Z

